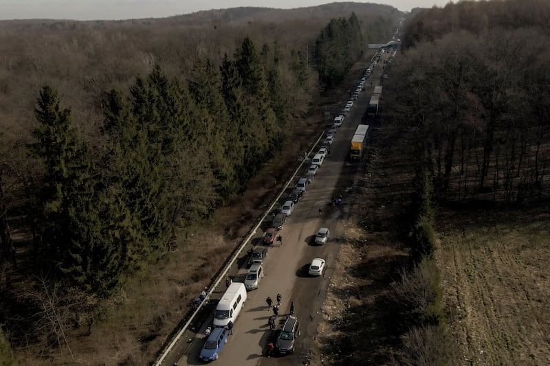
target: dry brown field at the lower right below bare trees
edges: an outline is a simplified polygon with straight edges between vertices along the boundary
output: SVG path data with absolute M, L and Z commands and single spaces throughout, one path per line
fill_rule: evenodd
M 549 219 L 547 205 L 439 213 L 437 258 L 457 363 L 550 364 Z

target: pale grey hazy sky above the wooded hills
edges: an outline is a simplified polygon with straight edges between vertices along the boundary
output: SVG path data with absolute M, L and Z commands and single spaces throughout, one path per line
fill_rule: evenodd
M 0 19 L 112 20 L 161 18 L 199 10 L 260 6 L 292 9 L 344 0 L 0 0 Z M 355 0 L 356 2 L 363 2 Z M 403 11 L 444 6 L 450 0 L 374 0 Z

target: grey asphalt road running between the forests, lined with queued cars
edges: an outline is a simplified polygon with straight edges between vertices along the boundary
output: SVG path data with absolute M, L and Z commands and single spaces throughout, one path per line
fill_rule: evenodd
M 345 184 L 349 184 L 353 174 L 347 174 L 347 179 L 341 179 L 342 170 L 355 172 L 355 165 L 347 163 L 349 143 L 355 128 L 361 121 L 366 105 L 372 95 L 373 85 L 378 84 L 382 74 L 382 66 L 375 68 L 375 72 L 365 83 L 366 91 L 360 93 L 355 105 L 348 113 L 344 124 L 338 129 L 331 148 L 331 157 L 327 157 L 320 167 L 316 178 L 307 188 L 303 198 L 296 204 L 292 215 L 280 231 L 283 236 L 282 247 L 271 247 L 264 261 L 265 277 L 259 289 L 250 291 L 245 307 L 239 318 L 236 319 L 233 335 L 228 344 L 223 347 L 219 360 L 220 365 L 294 365 L 303 363 L 307 357 L 307 350 L 314 340 L 316 325 L 321 316 L 322 301 L 329 285 L 330 276 L 338 255 L 338 238 L 342 233 L 344 218 L 349 214 L 346 196 L 343 197 L 342 207 L 331 207 L 333 194 L 343 193 Z M 307 167 L 305 167 L 307 169 Z M 346 172 L 347 173 L 347 172 Z M 350 177 L 351 176 L 351 177 Z M 295 181 L 300 178 L 296 177 Z M 283 197 L 285 195 L 283 194 Z M 323 214 L 318 214 L 322 207 Z M 266 222 L 267 224 L 267 222 Z M 267 225 L 262 225 L 267 227 Z M 314 236 L 320 227 L 331 230 L 329 242 L 323 246 L 314 246 Z M 260 242 L 263 232 L 258 231 L 253 243 Z M 327 271 L 322 277 L 308 277 L 307 267 L 313 258 L 325 258 Z M 247 267 L 243 264 L 245 257 L 237 261 L 242 268 L 235 265 L 230 272 L 234 281 L 243 281 Z M 218 298 L 225 290 L 225 286 L 218 291 Z M 270 296 L 276 298 L 281 293 L 283 301 L 278 317 L 277 330 L 281 329 L 286 314 L 289 312 L 290 301 L 294 301 L 296 316 L 300 321 L 301 334 L 296 343 L 296 352 L 285 357 L 265 358 L 263 351 L 271 331 L 267 328 L 267 319 L 273 314 L 267 310 L 265 299 Z M 215 296 L 214 295 L 214 296 Z M 281 316 L 282 314 L 282 316 Z M 204 329 L 211 323 L 212 316 L 207 319 L 201 329 L 195 334 L 187 331 L 175 347 L 175 352 L 166 358 L 164 365 L 199 365 L 202 364 L 198 355 L 205 341 Z M 187 342 L 187 343 L 186 343 Z M 173 361 L 177 360 L 176 363 Z

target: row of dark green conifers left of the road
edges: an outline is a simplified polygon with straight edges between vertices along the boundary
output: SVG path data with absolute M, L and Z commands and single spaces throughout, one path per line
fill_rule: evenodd
M 288 137 L 287 88 L 307 87 L 304 56 L 283 63 L 276 44 L 258 50 L 249 37 L 219 66 L 197 59 L 191 75 L 168 78 L 155 65 L 127 93 L 103 92 L 94 145 L 56 90 L 41 89 L 28 144 L 40 174 L 23 183 L 43 269 L 108 297 L 122 271 L 164 251 L 175 227 L 208 220 L 245 190 Z

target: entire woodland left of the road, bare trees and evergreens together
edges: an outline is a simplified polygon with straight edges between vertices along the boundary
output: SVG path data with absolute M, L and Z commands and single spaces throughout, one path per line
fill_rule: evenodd
M 400 15 L 334 6 L 277 23 L 245 10 L 3 23 L 0 323 L 16 349 L 66 346 L 75 359 L 69 329 L 109 319 L 121 279 L 244 192 L 319 85 L 341 80 Z

